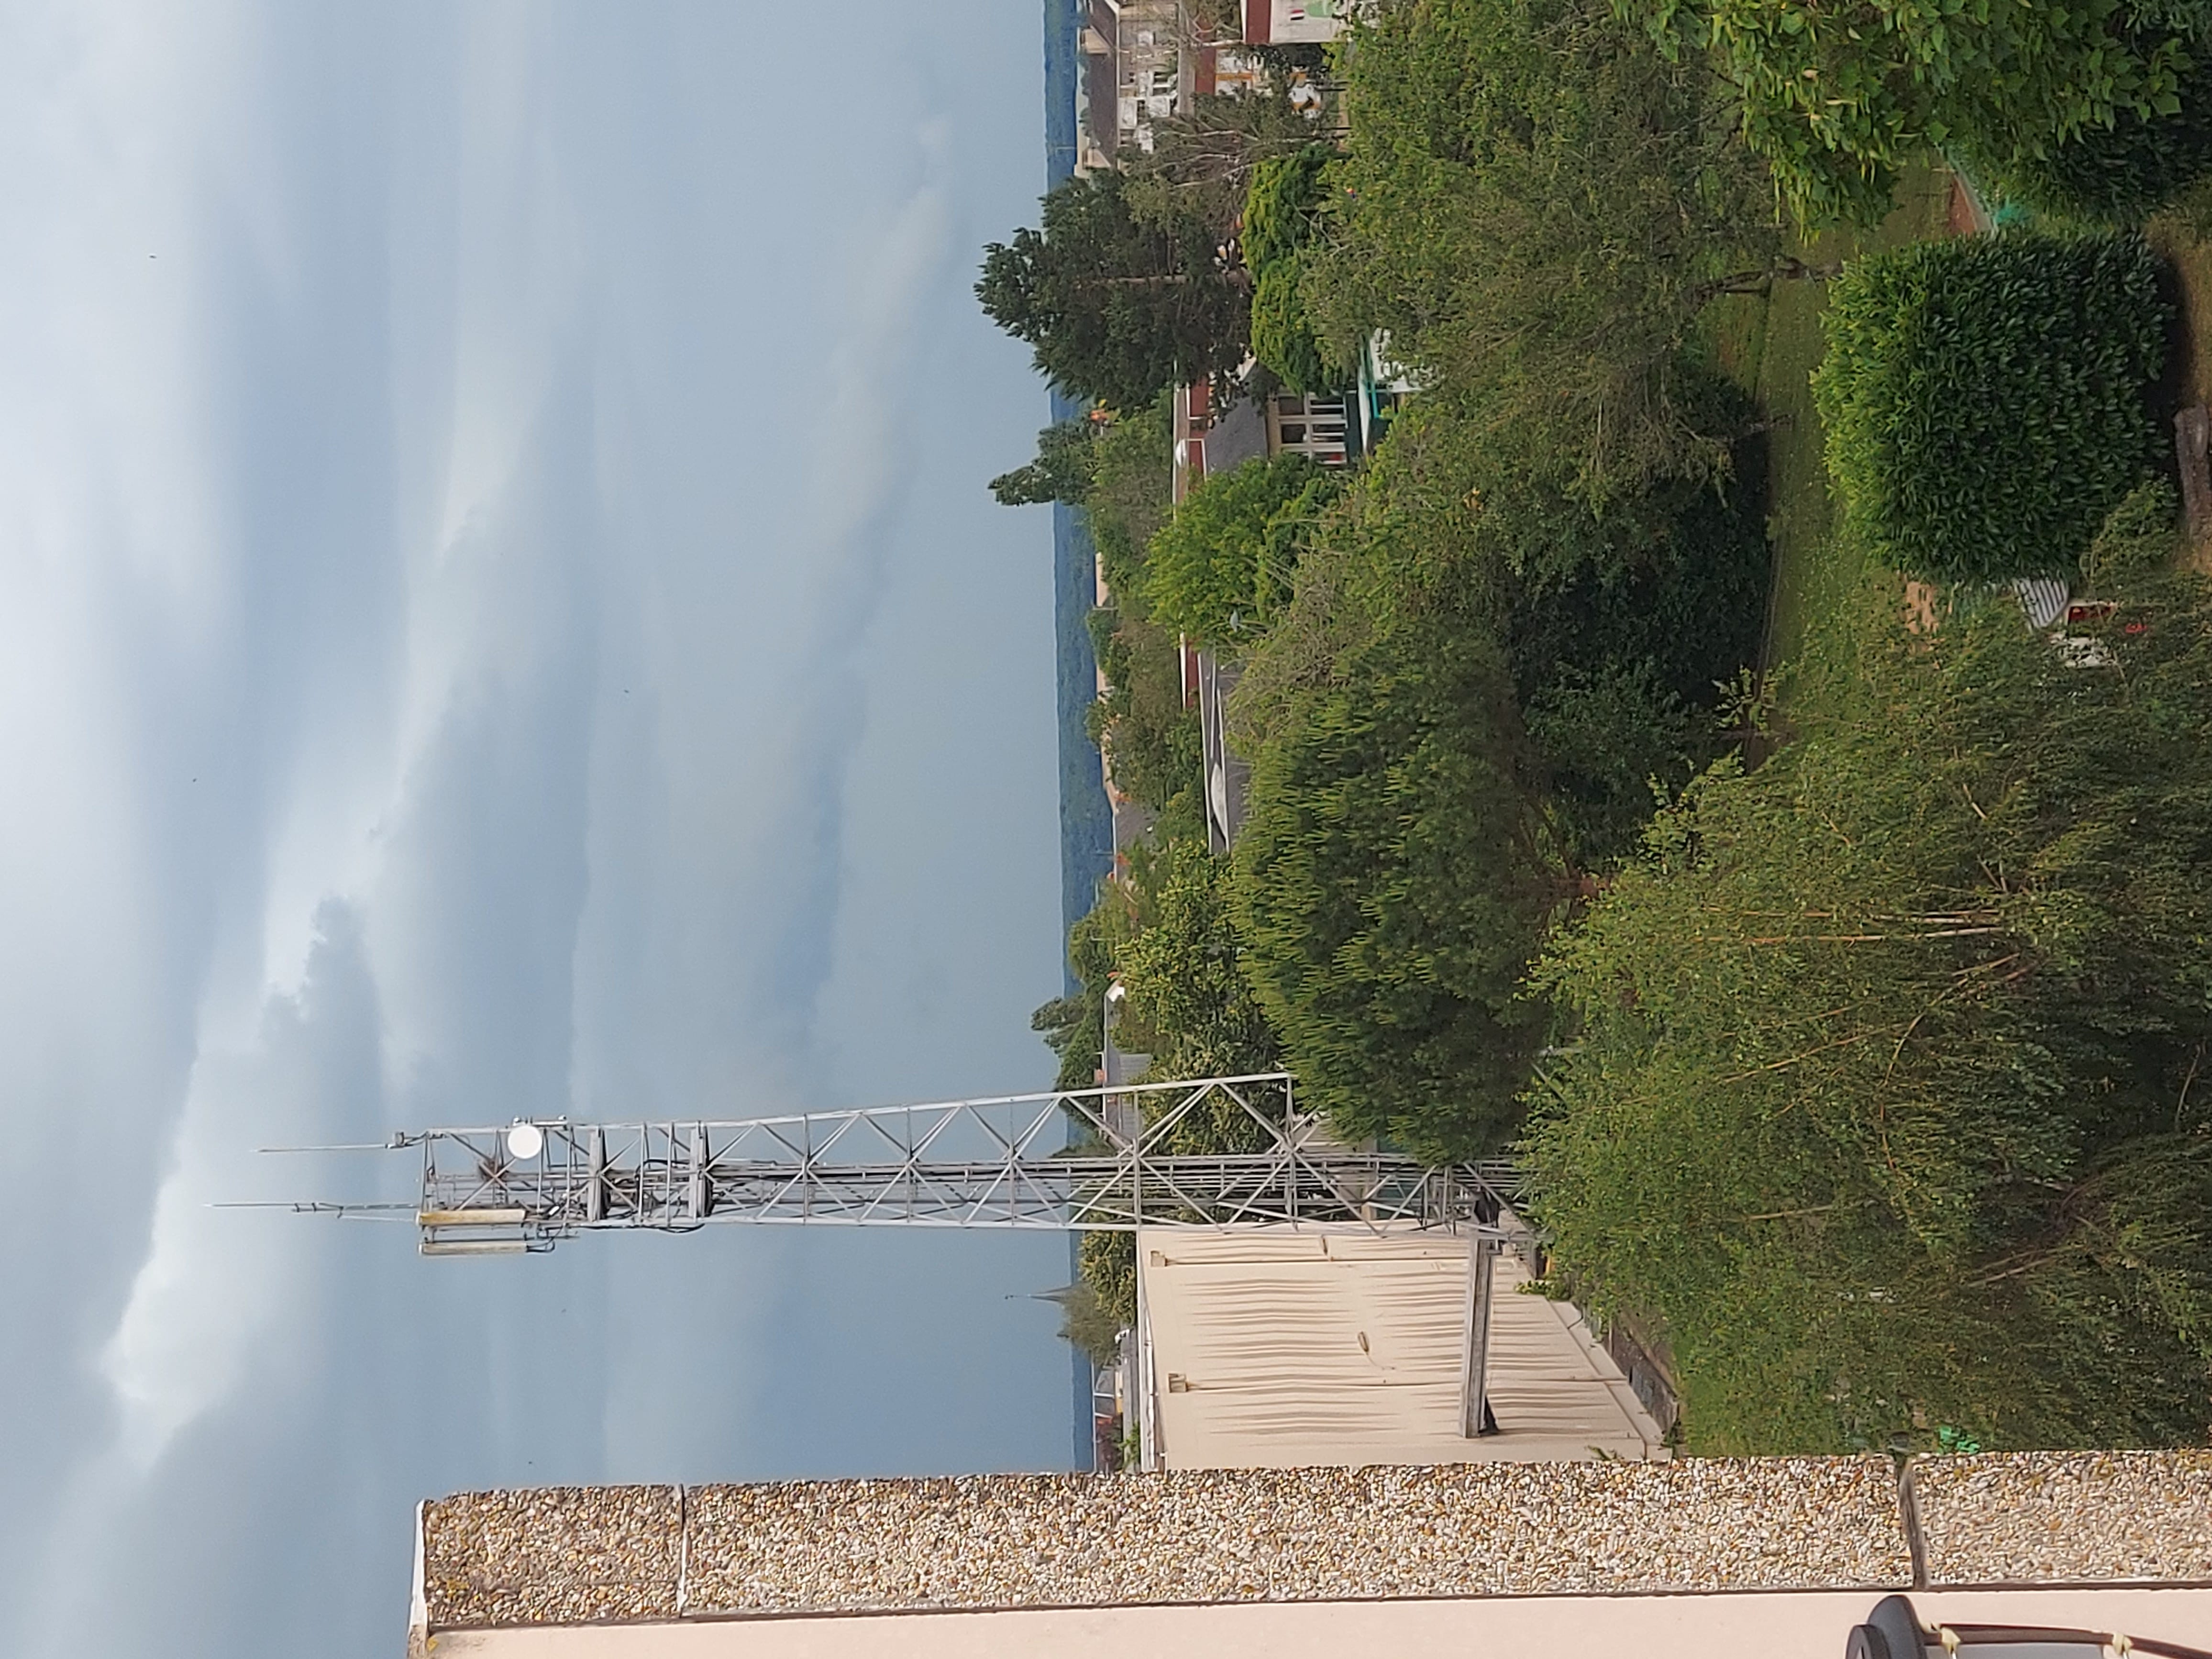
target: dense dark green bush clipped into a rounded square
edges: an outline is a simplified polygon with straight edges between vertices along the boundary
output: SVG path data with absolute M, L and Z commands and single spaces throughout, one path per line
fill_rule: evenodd
M 1924 580 L 2066 571 L 2157 456 L 2166 316 L 2139 237 L 2008 232 L 1854 261 L 1814 372 L 1847 522 Z

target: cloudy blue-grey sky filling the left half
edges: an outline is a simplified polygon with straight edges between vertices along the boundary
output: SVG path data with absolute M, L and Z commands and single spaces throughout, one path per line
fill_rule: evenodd
M 1051 1234 L 420 1261 L 515 1115 L 1035 1088 L 1040 7 L 0 4 L 0 1648 L 389 1655 L 418 1498 L 1048 1469 Z

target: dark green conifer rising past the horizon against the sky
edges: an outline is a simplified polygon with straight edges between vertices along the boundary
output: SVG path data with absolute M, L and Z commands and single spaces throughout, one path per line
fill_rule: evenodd
M 1044 197 L 1040 230 L 984 248 L 975 299 L 1062 392 L 1137 409 L 1243 361 L 1248 290 L 1206 221 L 1141 221 L 1119 173 L 1091 173 Z

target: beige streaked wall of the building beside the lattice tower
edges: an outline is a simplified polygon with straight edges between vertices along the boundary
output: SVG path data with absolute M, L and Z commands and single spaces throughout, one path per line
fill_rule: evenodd
M 1666 1458 L 1566 1303 L 1498 1256 L 1489 1396 L 1460 1436 L 1467 1243 L 1369 1228 L 1152 1228 L 1139 1239 L 1168 1469 Z

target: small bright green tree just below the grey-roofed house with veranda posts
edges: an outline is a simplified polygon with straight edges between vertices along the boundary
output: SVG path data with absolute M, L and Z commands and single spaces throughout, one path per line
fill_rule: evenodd
M 1250 644 L 1290 602 L 1298 546 L 1338 487 L 1298 453 L 1201 478 L 1146 549 L 1155 622 L 1228 650 Z

